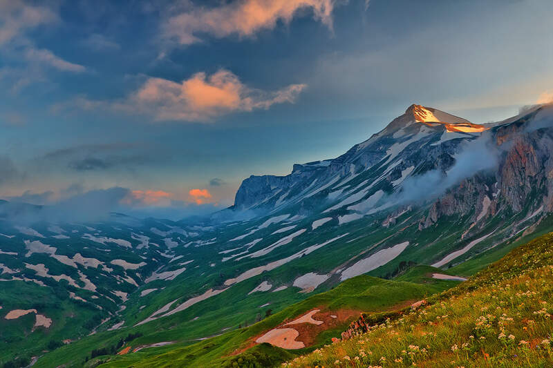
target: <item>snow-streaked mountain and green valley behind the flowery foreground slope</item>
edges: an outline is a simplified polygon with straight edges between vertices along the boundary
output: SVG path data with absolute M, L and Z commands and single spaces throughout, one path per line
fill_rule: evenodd
M 360 313 L 396 313 L 552 231 L 552 116 L 536 106 L 480 129 L 413 105 L 344 155 L 252 176 L 234 206 L 194 220 L 50 223 L 3 202 L 0 361 L 306 354 Z

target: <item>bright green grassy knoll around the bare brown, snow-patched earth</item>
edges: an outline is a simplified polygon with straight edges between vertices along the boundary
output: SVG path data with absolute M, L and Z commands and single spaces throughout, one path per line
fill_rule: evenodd
M 435 269 L 434 269 L 435 270 Z M 422 279 L 421 279 L 422 280 Z M 424 279 L 420 283 L 383 280 L 361 275 L 346 280 L 330 291 L 311 296 L 292 304 L 247 328 L 229 331 L 221 336 L 194 345 L 168 345 L 150 348 L 124 356 L 103 356 L 88 362 L 89 366 L 104 363 L 100 367 L 272 367 L 283 360 L 306 354 L 315 347 L 329 343 L 339 336 L 352 319 L 320 333 L 315 343 L 294 351 L 286 351 L 268 344 L 254 345 L 253 340 L 265 331 L 293 320 L 312 309 L 324 311 L 352 311 L 353 319 L 360 311 L 377 313 L 389 311 L 397 305 L 420 300 L 433 293 L 449 289 L 458 282 Z M 250 347 L 250 349 L 246 349 Z M 131 345 L 133 349 L 134 346 Z M 236 354 L 238 352 L 241 354 Z

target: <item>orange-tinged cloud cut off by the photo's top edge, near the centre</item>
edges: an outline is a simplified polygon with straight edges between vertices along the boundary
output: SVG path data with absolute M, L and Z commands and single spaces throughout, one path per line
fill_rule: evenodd
M 334 4 L 335 0 L 238 0 L 216 8 L 193 7 L 169 17 L 163 32 L 182 45 L 200 41 L 203 34 L 252 37 L 260 30 L 275 28 L 279 21 L 290 23 L 300 10 L 311 10 L 315 19 L 332 29 Z

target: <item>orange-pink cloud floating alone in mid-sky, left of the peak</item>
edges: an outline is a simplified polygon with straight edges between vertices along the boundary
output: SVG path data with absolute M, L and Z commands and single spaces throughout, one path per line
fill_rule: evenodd
M 305 84 L 292 84 L 275 91 L 249 88 L 232 72 L 219 70 L 209 76 L 199 72 L 180 83 L 149 78 L 129 98 L 112 107 L 126 113 L 152 115 L 158 121 L 206 122 L 238 111 L 294 103 L 305 88 Z M 94 106 L 94 103 L 89 101 L 86 105 Z

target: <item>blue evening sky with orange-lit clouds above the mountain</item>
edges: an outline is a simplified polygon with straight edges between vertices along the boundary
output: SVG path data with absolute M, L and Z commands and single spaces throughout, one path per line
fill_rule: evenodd
M 0 197 L 223 209 L 413 103 L 482 123 L 552 100 L 552 21 L 550 0 L 0 0 Z

